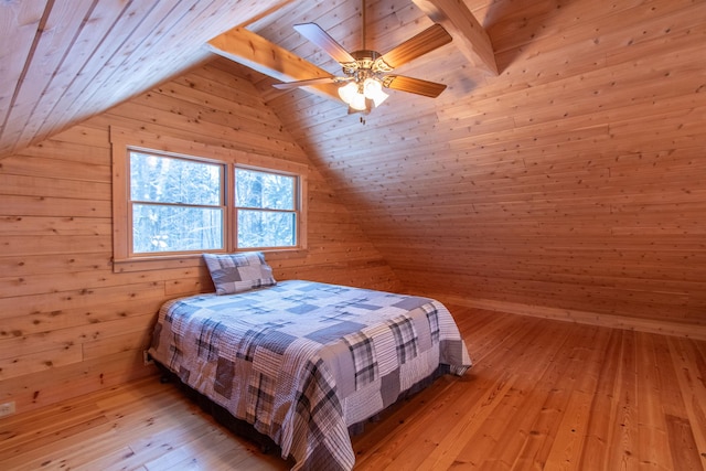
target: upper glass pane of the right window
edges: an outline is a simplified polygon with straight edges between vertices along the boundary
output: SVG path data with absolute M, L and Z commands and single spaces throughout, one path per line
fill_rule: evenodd
M 236 206 L 295 210 L 295 176 L 236 169 L 235 183 Z

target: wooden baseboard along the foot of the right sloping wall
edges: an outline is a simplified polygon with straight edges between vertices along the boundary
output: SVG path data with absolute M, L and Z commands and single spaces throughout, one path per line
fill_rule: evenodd
M 496 301 L 492 299 L 468 299 L 459 296 L 439 295 L 432 298 L 449 304 L 466 308 L 485 309 L 511 314 L 531 315 L 554 319 L 579 324 L 600 325 L 613 329 L 625 329 L 639 332 L 660 333 L 687 339 L 706 341 L 706 327 L 665 322 L 653 319 L 637 319 L 627 315 L 599 314 L 596 312 L 575 311 L 570 309 L 548 308 L 544 306 L 521 304 L 516 302 Z

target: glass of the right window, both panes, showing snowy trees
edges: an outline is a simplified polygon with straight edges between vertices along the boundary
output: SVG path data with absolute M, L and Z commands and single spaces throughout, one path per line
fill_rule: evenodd
M 252 169 L 235 169 L 237 246 L 297 245 L 297 178 Z

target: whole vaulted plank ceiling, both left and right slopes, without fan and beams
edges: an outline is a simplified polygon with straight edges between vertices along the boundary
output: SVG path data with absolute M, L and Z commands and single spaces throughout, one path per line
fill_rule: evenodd
M 397 71 L 448 85 L 440 97 L 393 90 L 362 116 L 248 72 L 400 280 L 506 310 L 706 324 L 706 3 L 367 1 L 367 47 L 384 53 L 430 26 L 429 4 L 441 3 L 484 28 L 499 75 L 457 34 Z M 202 61 L 243 73 L 204 47 L 237 25 L 340 74 L 292 24 L 317 22 L 352 51 L 360 10 L 0 2 L 0 158 Z

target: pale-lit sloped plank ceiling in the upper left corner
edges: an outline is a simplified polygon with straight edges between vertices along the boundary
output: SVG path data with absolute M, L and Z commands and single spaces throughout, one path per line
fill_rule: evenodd
M 213 58 L 206 41 L 287 2 L 0 2 L 0 157 Z

